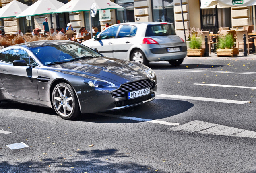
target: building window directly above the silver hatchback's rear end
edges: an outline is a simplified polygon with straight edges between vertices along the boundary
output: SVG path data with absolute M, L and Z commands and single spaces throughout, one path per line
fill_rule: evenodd
M 151 0 L 153 21 L 170 22 L 174 24 L 173 0 Z

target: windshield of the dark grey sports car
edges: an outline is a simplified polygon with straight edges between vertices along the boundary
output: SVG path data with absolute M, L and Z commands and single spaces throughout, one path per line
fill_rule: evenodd
M 45 46 L 36 46 L 30 50 L 44 65 L 70 62 L 76 59 L 101 57 L 102 55 L 83 46 L 82 44 L 47 44 Z

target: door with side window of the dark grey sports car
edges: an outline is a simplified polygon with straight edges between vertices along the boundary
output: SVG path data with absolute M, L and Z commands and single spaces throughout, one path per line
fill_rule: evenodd
M 13 66 L 14 60 L 25 60 L 36 64 L 25 50 L 12 49 L 5 53 L 4 63 L 0 66 L 0 77 L 6 91 L 17 97 L 39 99 L 37 88 L 38 67 Z

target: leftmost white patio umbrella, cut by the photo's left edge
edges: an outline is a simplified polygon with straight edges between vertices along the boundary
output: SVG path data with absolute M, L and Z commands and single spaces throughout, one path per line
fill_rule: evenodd
M 0 18 L 16 17 L 27 8 L 29 8 L 29 6 L 26 4 L 13 0 L 9 4 L 6 4 L 3 8 L 0 8 Z

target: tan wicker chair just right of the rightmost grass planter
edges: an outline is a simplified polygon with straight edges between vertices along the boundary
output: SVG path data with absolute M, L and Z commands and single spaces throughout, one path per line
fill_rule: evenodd
M 246 36 L 247 54 L 249 55 L 249 52 L 250 52 L 249 48 L 250 48 L 250 45 L 253 46 L 253 44 L 255 44 L 255 43 L 254 43 L 255 41 L 254 41 L 254 42 L 249 41 L 249 40 L 251 40 L 251 39 L 254 38 L 254 37 L 249 37 L 249 38 L 248 38 L 247 30 L 237 30 L 237 31 L 236 31 L 236 46 L 237 46 L 238 50 L 239 50 L 239 49 L 242 49 L 243 52 L 244 52 L 244 39 L 243 39 L 244 34 L 245 34 L 245 36 Z M 239 52 L 239 51 L 238 51 L 238 52 Z

